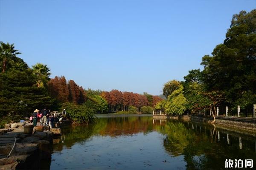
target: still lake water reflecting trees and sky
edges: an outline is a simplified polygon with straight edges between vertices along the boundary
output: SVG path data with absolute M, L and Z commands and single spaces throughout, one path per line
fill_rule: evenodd
M 212 125 L 120 116 L 62 133 L 55 139 L 51 170 L 220 170 L 226 159 L 256 164 L 255 137 Z

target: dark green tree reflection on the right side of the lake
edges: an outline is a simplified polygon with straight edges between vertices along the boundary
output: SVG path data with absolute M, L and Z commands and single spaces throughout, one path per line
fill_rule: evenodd
M 233 133 L 228 144 L 227 132 L 213 125 L 171 120 L 164 125 L 156 124 L 154 129 L 166 135 L 163 140 L 166 152 L 171 156 L 183 155 L 189 170 L 224 169 L 226 159 L 256 158 L 254 137 Z M 244 141 L 242 149 L 239 138 Z

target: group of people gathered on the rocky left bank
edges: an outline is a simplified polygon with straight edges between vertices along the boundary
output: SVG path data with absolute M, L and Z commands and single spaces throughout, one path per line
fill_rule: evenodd
M 51 114 L 49 109 L 42 109 L 39 111 L 38 109 L 35 109 L 34 113 L 32 113 L 32 116 L 30 116 L 30 121 L 33 122 L 33 126 L 37 125 L 37 122 L 39 121 L 41 125 L 47 126 L 49 125 L 50 128 L 54 127 L 54 122 L 62 121 L 63 118 L 66 115 L 66 110 L 63 109 L 61 114 Z

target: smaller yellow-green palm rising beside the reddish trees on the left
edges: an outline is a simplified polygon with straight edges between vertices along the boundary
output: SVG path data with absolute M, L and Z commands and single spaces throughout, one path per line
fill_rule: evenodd
M 44 86 L 44 82 L 47 82 L 47 80 L 49 80 L 51 70 L 47 67 L 47 65 L 41 63 L 36 63 L 35 65 L 32 65 L 32 70 L 33 73 L 38 77 L 38 81 L 36 82 L 37 86 Z

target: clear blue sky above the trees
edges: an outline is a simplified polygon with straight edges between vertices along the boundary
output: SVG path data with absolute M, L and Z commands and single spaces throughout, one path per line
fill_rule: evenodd
M 256 0 L 0 0 L 0 41 L 84 88 L 161 94 Z

